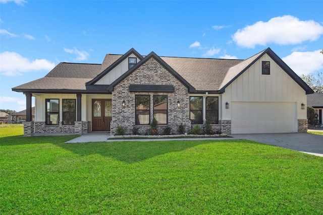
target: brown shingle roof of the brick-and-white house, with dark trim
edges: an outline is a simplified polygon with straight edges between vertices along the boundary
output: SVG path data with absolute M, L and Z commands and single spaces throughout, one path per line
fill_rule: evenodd
M 102 64 L 89 63 L 59 63 L 44 78 L 13 88 L 17 92 L 77 92 L 106 93 L 108 85 L 96 86 L 95 83 L 109 73 L 120 61 L 134 53 L 143 58 L 135 49 L 126 54 L 106 54 Z M 152 52 L 153 53 L 153 52 Z M 239 77 L 252 63 L 263 54 L 269 54 L 294 79 L 307 94 L 313 91 L 283 62 L 270 48 L 267 48 L 246 60 L 213 59 L 190 57 L 159 57 L 159 61 L 176 74 L 177 78 L 187 86 L 190 92 L 214 91 L 224 92 L 224 89 Z M 142 63 L 139 61 L 138 65 Z M 134 69 L 131 70 L 131 72 Z M 129 70 L 130 71 L 130 70 Z M 128 74 L 128 73 L 127 73 Z M 120 77 L 122 78 L 122 77 Z M 193 89 L 193 91 L 191 90 Z

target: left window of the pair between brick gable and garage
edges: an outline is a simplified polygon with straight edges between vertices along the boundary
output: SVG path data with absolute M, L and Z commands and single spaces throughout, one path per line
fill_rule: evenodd
M 192 124 L 203 124 L 203 97 L 190 97 L 190 120 Z

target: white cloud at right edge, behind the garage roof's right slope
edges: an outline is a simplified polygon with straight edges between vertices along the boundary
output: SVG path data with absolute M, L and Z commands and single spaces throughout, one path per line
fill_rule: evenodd
M 295 51 L 282 59 L 298 76 L 306 76 L 323 68 L 323 54 L 320 51 Z

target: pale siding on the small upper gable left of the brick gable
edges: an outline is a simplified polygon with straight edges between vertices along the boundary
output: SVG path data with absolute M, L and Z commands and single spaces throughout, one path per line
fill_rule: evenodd
M 120 62 L 116 67 L 114 67 L 109 73 L 103 76 L 100 80 L 98 80 L 95 85 L 110 85 L 114 81 L 116 81 L 120 76 L 122 76 L 126 71 L 129 70 L 129 57 L 136 57 L 134 54 L 130 54 L 127 58 L 125 58 L 122 62 Z M 140 61 L 138 57 L 137 63 Z

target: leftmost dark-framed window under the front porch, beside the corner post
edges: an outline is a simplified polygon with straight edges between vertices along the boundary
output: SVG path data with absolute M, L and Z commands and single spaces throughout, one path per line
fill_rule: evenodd
M 46 102 L 46 125 L 58 125 L 60 121 L 60 100 L 45 99 Z

